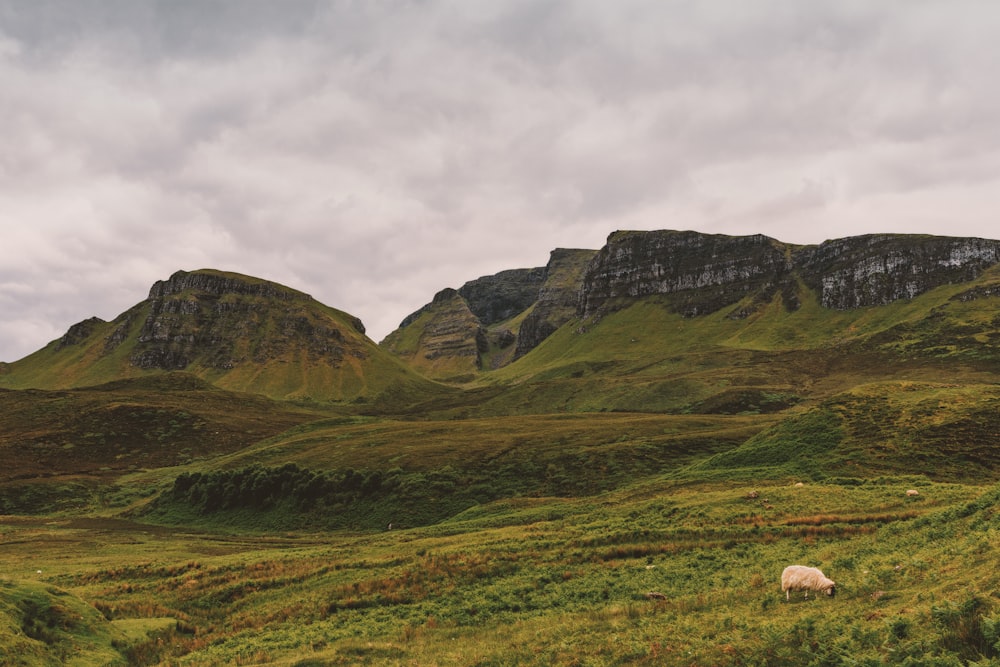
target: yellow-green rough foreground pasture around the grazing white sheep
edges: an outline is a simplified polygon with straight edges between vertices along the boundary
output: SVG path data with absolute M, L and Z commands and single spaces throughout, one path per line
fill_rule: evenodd
M 661 480 L 367 534 L 7 517 L 0 560 L 102 612 L 121 664 L 964 664 L 997 655 L 998 496 Z M 838 596 L 786 602 L 792 562 Z

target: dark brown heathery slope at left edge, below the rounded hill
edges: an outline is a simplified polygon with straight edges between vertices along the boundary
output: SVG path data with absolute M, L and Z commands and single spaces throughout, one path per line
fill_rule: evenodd
M 186 373 L 65 391 L 0 390 L 0 512 L 112 502 L 118 479 L 203 461 L 322 413 Z M 149 489 L 135 489 L 148 494 Z

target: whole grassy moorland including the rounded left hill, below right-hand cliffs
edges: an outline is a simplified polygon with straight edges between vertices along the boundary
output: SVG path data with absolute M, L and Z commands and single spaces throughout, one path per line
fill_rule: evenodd
M 1000 664 L 995 263 L 642 294 L 451 377 L 191 275 L 0 367 L 0 663 Z

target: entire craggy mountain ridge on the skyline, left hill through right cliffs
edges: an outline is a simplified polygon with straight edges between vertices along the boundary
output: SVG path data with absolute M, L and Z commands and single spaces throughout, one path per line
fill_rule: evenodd
M 512 365 L 522 370 L 499 380 L 528 377 L 537 362 L 520 360 L 565 357 L 567 346 L 578 347 L 566 338 L 561 351 L 533 354 L 563 327 L 584 333 L 650 300 L 687 320 L 718 313 L 742 322 L 730 335 L 746 340 L 761 329 L 761 314 L 796 314 L 805 322 L 805 304 L 820 309 L 809 311 L 815 319 L 912 301 L 947 285 L 969 286 L 956 299 L 992 298 L 1000 287 L 975 281 L 998 258 L 1000 241 L 979 238 L 872 234 L 802 246 L 760 234 L 616 231 L 600 250 L 556 249 L 545 267 L 445 288 L 378 345 L 357 317 L 303 292 L 213 269 L 178 271 L 111 322 L 78 322 L 42 350 L 4 365 L 0 386 L 67 388 L 184 370 L 272 398 L 430 396 L 444 390 L 435 381 L 475 383 Z M 641 334 L 645 325 L 625 326 Z M 905 333 L 893 326 L 866 335 L 881 336 L 875 344 Z M 989 339 L 986 324 L 977 326 L 977 335 Z M 789 341 L 801 335 L 788 331 Z M 821 330 L 814 335 L 827 344 Z M 400 393 L 399 386 L 409 389 Z

